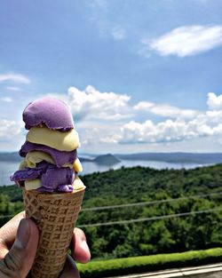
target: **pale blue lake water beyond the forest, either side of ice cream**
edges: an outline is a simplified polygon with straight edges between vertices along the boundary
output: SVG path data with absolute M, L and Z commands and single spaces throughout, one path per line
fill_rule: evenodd
M 159 161 L 135 161 L 135 160 L 122 160 L 120 163 L 116 163 L 115 165 L 104 165 L 98 163 L 82 163 L 83 164 L 83 173 L 90 174 L 96 171 L 108 171 L 110 169 L 119 169 L 121 167 L 133 167 L 133 166 L 143 166 L 143 167 L 151 167 L 155 169 L 193 169 L 195 167 L 203 166 L 202 164 L 197 163 L 166 163 L 166 162 L 159 162 Z M 11 185 L 13 184 L 10 181 L 9 177 L 12 172 L 17 171 L 19 167 L 19 163 L 14 162 L 1 162 L 0 161 L 0 186 L 3 185 Z

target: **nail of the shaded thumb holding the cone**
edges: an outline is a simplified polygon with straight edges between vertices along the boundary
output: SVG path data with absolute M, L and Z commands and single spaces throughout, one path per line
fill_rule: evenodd
M 18 227 L 18 232 L 14 242 L 15 247 L 25 248 L 29 240 L 30 228 L 28 220 L 20 220 L 20 226 Z

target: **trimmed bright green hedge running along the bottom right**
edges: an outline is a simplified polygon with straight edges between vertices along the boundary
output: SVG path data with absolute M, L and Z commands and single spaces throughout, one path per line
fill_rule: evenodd
M 222 249 L 186 251 L 175 254 L 158 254 L 136 258 L 115 258 L 78 264 L 82 278 L 107 277 L 113 275 L 139 274 L 164 268 L 198 266 L 220 262 Z

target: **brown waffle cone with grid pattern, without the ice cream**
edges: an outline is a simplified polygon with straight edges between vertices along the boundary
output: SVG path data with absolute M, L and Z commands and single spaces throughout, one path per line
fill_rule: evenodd
M 39 243 L 32 278 L 58 278 L 66 262 L 84 187 L 73 193 L 43 194 L 23 189 L 26 215 L 36 222 Z

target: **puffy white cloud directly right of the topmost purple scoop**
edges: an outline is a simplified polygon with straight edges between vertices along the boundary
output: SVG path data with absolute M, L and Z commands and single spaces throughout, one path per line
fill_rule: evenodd
M 70 87 L 67 103 L 75 118 L 117 121 L 131 116 L 130 99 L 126 94 L 100 92 L 92 86 L 87 86 L 84 91 Z

